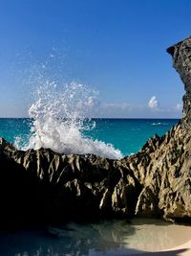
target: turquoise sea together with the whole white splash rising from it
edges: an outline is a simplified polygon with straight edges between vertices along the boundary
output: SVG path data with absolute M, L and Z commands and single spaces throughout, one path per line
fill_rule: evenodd
M 0 137 L 19 150 L 52 149 L 60 153 L 94 153 L 111 159 L 138 152 L 155 133 L 162 136 L 178 119 L 94 119 L 100 111 L 95 92 L 72 82 L 59 91 L 53 82 L 36 87 L 30 118 L 1 118 Z

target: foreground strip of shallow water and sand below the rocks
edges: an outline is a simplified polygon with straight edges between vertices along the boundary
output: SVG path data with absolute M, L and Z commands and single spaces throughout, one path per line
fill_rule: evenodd
M 190 237 L 191 226 L 159 220 L 139 219 L 126 225 L 125 221 L 115 220 L 92 224 L 70 222 L 61 227 L 47 226 L 45 230 L 2 233 L 0 256 L 23 255 L 24 251 L 28 253 L 26 255 L 33 255 L 39 247 L 39 256 L 47 255 L 50 249 L 53 255 L 79 252 L 87 256 L 188 256 L 191 253 Z M 8 241 L 17 243 L 10 248 Z

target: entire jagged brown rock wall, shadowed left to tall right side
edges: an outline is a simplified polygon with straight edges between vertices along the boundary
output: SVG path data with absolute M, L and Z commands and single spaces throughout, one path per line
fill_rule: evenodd
M 1 220 L 137 215 L 191 221 L 191 38 L 167 51 L 185 85 L 180 123 L 121 160 L 17 151 L 1 139 Z

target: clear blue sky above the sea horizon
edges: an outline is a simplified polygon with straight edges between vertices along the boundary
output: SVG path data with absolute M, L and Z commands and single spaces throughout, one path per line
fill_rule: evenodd
M 190 12 L 190 0 L 0 0 L 0 117 L 27 117 L 42 76 L 98 91 L 93 117 L 180 118 L 166 48 L 191 34 Z

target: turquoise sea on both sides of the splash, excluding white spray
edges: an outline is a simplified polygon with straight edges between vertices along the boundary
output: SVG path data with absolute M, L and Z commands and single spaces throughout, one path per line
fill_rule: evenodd
M 178 119 L 93 119 L 96 128 L 82 130 L 84 137 L 114 145 L 123 155 L 135 153 L 155 133 L 161 136 L 175 126 Z M 0 137 L 14 143 L 19 137 L 22 147 L 31 136 L 32 119 L 0 119 Z M 65 136 L 65 134 L 63 134 Z

